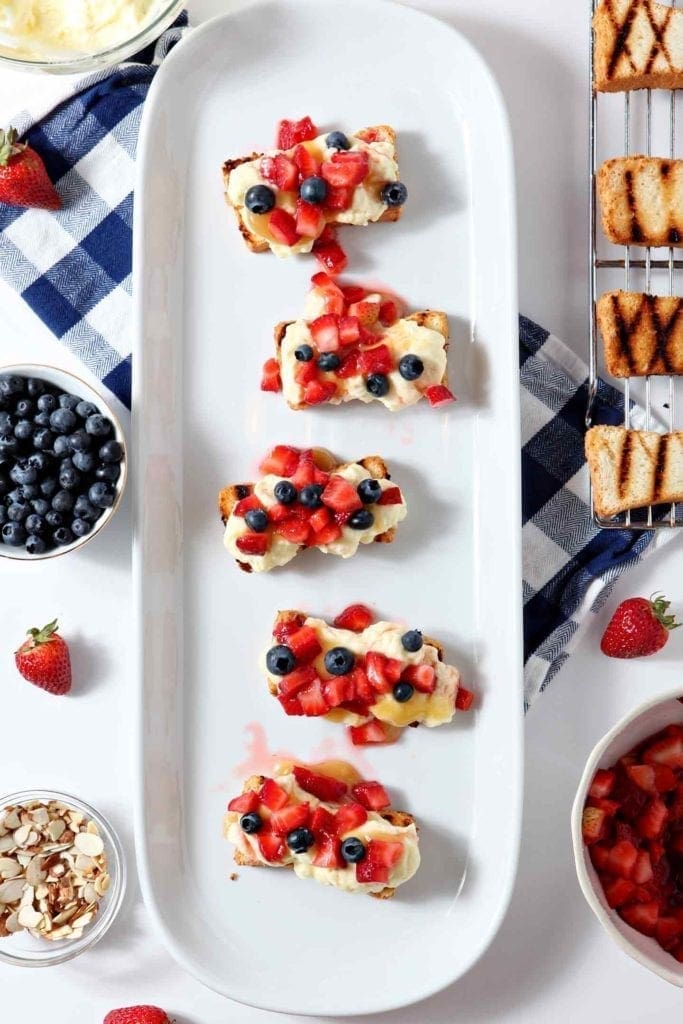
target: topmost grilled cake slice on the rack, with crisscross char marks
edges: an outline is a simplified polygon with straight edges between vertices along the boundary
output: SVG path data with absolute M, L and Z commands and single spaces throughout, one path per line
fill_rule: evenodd
M 593 29 L 598 92 L 683 87 L 683 11 L 654 0 L 601 0 Z

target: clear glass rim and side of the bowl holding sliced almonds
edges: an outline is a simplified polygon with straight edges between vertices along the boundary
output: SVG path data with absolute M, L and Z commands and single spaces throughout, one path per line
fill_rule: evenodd
M 80 956 L 86 949 L 91 949 L 114 923 L 121 909 L 126 890 L 126 861 L 119 838 L 106 818 L 89 804 L 66 793 L 27 790 L 0 798 L 0 809 L 35 801 L 47 803 L 50 800 L 58 800 L 95 822 L 104 842 L 106 867 L 112 885 L 99 903 L 99 910 L 94 921 L 85 928 L 79 939 L 58 939 L 51 942 L 48 939 L 34 938 L 26 931 L 0 938 L 0 963 L 12 964 L 14 967 L 53 967 L 55 964 L 65 964 L 75 956 Z

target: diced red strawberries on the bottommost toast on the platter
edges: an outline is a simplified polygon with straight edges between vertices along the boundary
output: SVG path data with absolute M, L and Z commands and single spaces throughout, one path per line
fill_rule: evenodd
M 346 782 L 312 771 L 303 765 L 293 767 L 297 785 L 325 804 L 338 805 L 313 807 L 299 802 L 278 783 L 266 778 L 260 790 L 249 790 L 236 797 L 227 810 L 239 814 L 256 812 L 263 824 L 256 833 L 256 841 L 264 860 L 279 864 L 289 853 L 287 836 L 295 828 L 308 828 L 314 843 L 310 848 L 316 867 L 346 868 L 355 870 L 360 883 L 387 883 L 391 868 L 400 860 L 403 844 L 400 840 L 371 840 L 366 856 L 358 863 L 347 863 L 341 855 L 342 839 L 361 827 L 368 812 L 380 812 L 389 807 L 389 797 L 380 782 L 359 781 L 350 787 Z

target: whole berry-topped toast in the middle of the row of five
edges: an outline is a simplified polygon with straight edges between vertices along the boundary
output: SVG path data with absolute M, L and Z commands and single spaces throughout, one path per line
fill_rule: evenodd
M 304 548 L 350 558 L 361 544 L 393 541 L 408 514 L 379 456 L 339 463 L 325 449 L 278 444 L 260 471 L 218 497 L 223 543 L 246 572 L 286 565 Z

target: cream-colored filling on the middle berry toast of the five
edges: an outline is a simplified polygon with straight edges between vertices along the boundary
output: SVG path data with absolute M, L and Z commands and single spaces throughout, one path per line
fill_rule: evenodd
M 345 480 L 349 480 L 354 486 L 357 486 L 361 480 L 368 479 L 369 474 L 367 469 L 354 462 L 348 466 L 336 469 L 334 475 L 343 476 Z M 273 505 L 278 504 L 273 489 L 281 479 L 283 477 L 269 474 L 260 479 L 254 487 L 254 494 L 265 509 L 272 508 Z M 383 490 L 395 486 L 390 480 L 379 480 L 379 483 Z M 360 544 L 372 544 L 376 537 L 384 534 L 387 529 L 391 529 L 392 526 L 395 526 L 408 515 L 404 501 L 400 505 L 373 505 L 370 508 L 375 517 L 372 526 L 368 529 L 352 529 L 350 526 L 344 525 L 342 526 L 341 537 L 338 540 L 332 544 L 323 544 L 317 550 L 324 552 L 326 555 L 339 555 L 341 558 L 350 558 L 351 555 L 356 553 Z M 264 555 L 245 554 L 238 548 L 237 540 L 244 534 L 249 532 L 251 531 L 245 519 L 241 516 L 230 514 L 225 523 L 223 544 L 233 558 L 251 565 L 254 572 L 267 572 L 276 565 L 285 565 L 300 550 L 298 544 L 292 544 L 279 534 L 275 534 L 272 527 L 268 527 L 270 543 L 266 553 Z

